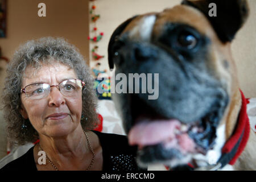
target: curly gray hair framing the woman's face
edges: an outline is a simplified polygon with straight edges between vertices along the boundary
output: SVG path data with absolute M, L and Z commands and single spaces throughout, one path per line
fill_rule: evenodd
M 75 46 L 63 38 L 41 38 L 31 40 L 20 46 L 7 66 L 5 88 L 3 88 L 3 112 L 7 122 L 7 134 L 12 144 L 23 145 L 35 142 L 39 135 L 30 122 L 26 122 L 26 133 L 22 129 L 25 119 L 19 113 L 20 89 L 26 68 L 40 69 L 42 65 L 65 64 L 75 70 L 77 77 L 85 82 L 82 90 L 83 129 L 94 129 L 98 123 L 96 113 L 97 97 L 93 90 L 93 77 L 85 60 Z

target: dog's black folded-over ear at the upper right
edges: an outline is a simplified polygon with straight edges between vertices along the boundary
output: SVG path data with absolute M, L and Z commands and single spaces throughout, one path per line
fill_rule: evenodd
M 224 43 L 234 39 L 236 32 L 249 15 L 246 0 L 183 0 L 181 4 L 195 7 L 203 12 Z M 210 16 L 209 12 L 212 8 L 216 9 L 216 14 Z

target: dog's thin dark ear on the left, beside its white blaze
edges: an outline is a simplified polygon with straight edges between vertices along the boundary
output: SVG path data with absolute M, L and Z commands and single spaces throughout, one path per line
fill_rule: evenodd
M 136 16 L 133 16 L 132 18 L 127 19 L 125 22 L 123 22 L 122 24 L 120 24 L 115 31 L 113 32 L 110 40 L 109 40 L 109 46 L 108 46 L 108 59 L 109 59 L 109 68 L 113 69 L 114 68 L 114 62 L 113 62 L 113 55 L 112 55 L 112 45 L 115 42 L 115 38 L 120 35 L 122 33 L 123 30 L 125 30 L 125 27 L 127 26 L 127 24 L 129 24 L 131 22 L 131 20 L 133 20 L 134 18 L 136 18 Z

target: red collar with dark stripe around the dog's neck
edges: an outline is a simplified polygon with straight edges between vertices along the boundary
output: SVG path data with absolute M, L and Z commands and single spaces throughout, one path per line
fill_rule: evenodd
M 242 106 L 234 133 L 228 141 L 226 141 L 224 147 L 222 147 L 222 156 L 219 159 L 222 167 L 226 164 L 233 165 L 236 163 L 237 158 L 240 156 L 243 149 L 245 149 L 246 143 L 249 139 L 250 123 L 246 111 L 247 100 L 241 90 L 240 92 L 242 97 Z

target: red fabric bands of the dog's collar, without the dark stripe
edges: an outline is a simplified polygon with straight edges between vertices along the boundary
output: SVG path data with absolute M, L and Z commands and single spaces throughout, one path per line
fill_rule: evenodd
M 240 146 L 238 147 L 238 150 L 234 158 L 230 160 L 229 162 L 230 165 L 233 165 L 234 163 L 236 163 L 238 156 L 240 156 L 240 154 L 242 153 L 243 149 L 246 146 L 246 143 L 247 143 L 247 140 L 249 139 L 249 134 L 250 134 L 250 123 L 249 123 L 249 118 L 246 112 L 247 100 L 241 90 L 240 92 L 242 97 L 242 106 L 239 114 L 236 131 L 232 135 L 232 137 L 230 137 L 230 139 L 225 143 L 225 146 L 222 148 L 222 153 L 226 154 L 230 152 L 238 142 L 244 130 L 243 138 L 241 140 Z

